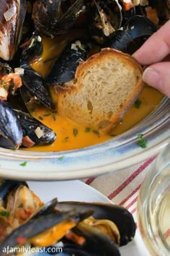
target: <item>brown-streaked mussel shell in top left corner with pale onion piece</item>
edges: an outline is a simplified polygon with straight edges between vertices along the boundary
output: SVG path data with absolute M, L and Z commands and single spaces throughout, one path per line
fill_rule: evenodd
M 0 8 L 0 57 L 9 61 L 14 56 L 22 34 L 26 14 L 25 0 L 3 0 Z

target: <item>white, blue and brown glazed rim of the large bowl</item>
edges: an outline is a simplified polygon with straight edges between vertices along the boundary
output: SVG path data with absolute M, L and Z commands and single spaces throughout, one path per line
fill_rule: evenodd
M 148 141 L 138 145 L 138 134 Z M 170 99 L 138 125 L 107 142 L 65 152 L 0 149 L 0 176 L 10 179 L 66 180 L 119 171 L 156 155 L 170 139 Z M 25 165 L 21 163 L 26 162 Z

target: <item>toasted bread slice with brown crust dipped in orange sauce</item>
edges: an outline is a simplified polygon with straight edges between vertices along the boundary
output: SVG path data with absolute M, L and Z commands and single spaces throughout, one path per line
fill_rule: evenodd
M 79 64 L 75 79 L 57 86 L 58 114 L 108 133 L 143 90 L 143 69 L 128 54 L 104 48 Z

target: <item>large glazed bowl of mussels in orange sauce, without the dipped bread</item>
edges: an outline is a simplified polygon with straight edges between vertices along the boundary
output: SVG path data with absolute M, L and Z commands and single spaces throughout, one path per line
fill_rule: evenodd
M 109 134 L 58 115 L 56 90 L 102 48 L 133 54 L 169 19 L 167 1 L 5 0 L 0 14 L 1 176 L 99 175 L 167 144 L 169 99 L 147 85 Z

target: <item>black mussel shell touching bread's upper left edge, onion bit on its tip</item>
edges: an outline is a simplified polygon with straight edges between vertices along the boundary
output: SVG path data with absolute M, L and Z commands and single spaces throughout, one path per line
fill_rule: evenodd
M 50 74 L 45 79 L 46 83 L 48 85 L 62 85 L 72 80 L 79 63 L 86 60 L 88 51 L 89 47 L 80 40 L 69 43 L 55 61 Z

